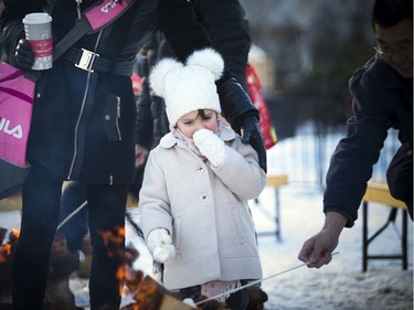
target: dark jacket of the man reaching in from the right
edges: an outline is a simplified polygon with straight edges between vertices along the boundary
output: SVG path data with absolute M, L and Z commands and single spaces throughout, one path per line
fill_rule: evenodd
M 355 71 L 349 87 L 353 117 L 348 120 L 348 137 L 331 158 L 323 209 L 343 214 L 347 226 L 352 226 L 388 130 L 397 129 L 401 142 L 413 148 L 413 79 L 403 78 L 375 56 Z M 412 184 L 412 171 L 407 177 L 404 183 Z

